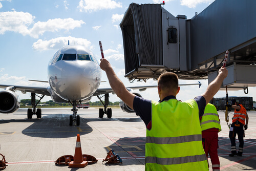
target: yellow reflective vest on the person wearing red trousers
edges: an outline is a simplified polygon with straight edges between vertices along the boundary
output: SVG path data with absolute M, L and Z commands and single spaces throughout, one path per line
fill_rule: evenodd
M 215 105 L 208 103 L 205 106 L 204 114 L 200 120 L 202 131 L 208 130 L 211 128 L 219 129 L 221 131 L 221 124 L 218 112 L 215 108 Z

